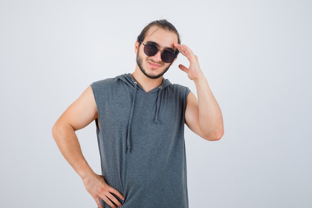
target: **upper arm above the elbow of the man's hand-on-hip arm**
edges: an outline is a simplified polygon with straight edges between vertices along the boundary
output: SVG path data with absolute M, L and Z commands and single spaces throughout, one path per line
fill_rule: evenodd
M 79 130 L 89 125 L 98 117 L 93 91 L 89 86 L 80 97 L 61 115 L 59 122 Z

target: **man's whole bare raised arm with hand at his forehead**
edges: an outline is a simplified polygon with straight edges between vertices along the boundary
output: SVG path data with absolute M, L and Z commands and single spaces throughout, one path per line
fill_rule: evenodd
M 222 113 L 199 67 L 197 56 L 186 45 L 175 43 L 174 47 L 190 62 L 188 68 L 183 65 L 179 65 L 179 68 L 194 81 L 198 97 L 197 100 L 193 93 L 189 93 L 185 109 L 185 123 L 200 137 L 209 141 L 219 140 L 224 133 Z

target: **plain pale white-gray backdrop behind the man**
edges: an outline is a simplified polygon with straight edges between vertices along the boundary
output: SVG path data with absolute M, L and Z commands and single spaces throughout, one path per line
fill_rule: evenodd
M 198 56 L 225 134 L 186 129 L 190 208 L 312 207 L 312 1 L 1 0 L 0 208 L 96 208 L 51 129 L 93 81 L 134 71 L 166 18 Z M 192 81 L 177 67 L 172 83 Z M 77 132 L 100 174 L 92 123 Z

